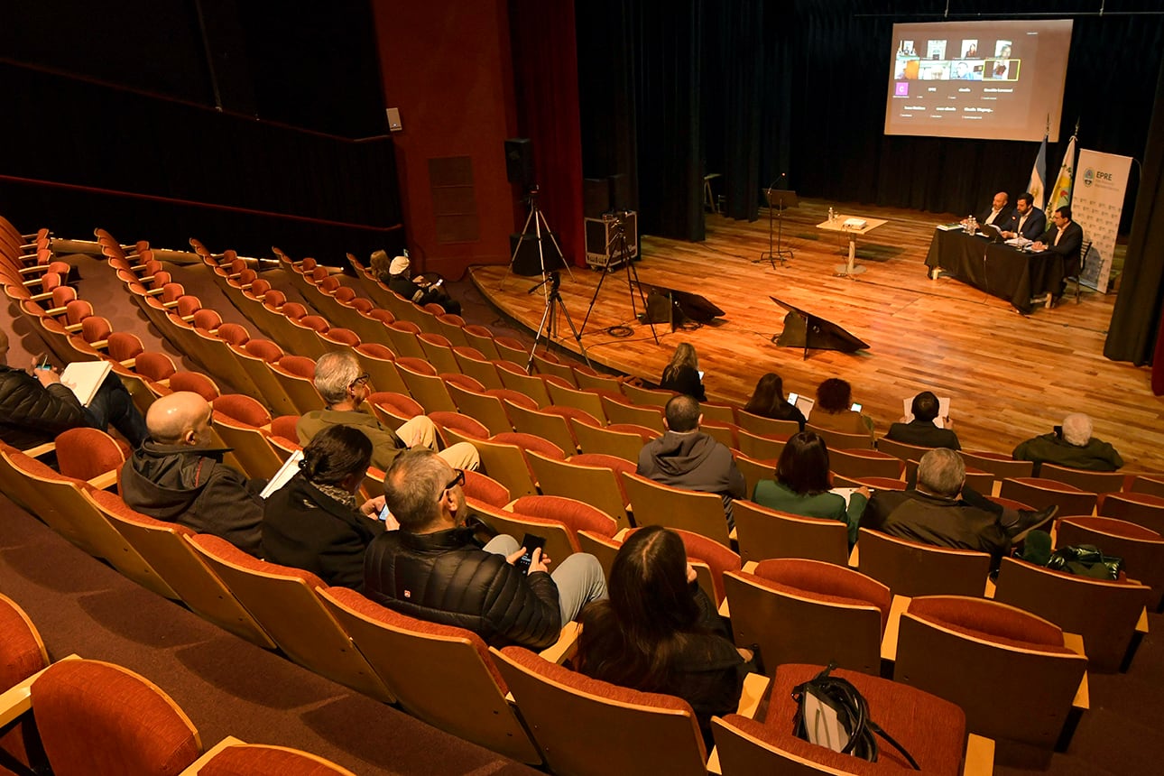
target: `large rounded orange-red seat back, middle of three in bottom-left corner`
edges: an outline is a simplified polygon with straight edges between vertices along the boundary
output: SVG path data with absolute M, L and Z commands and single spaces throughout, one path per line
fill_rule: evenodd
M 56 776 L 169 776 L 201 749 L 180 709 L 149 679 L 112 663 L 55 663 L 33 684 L 33 713 Z

